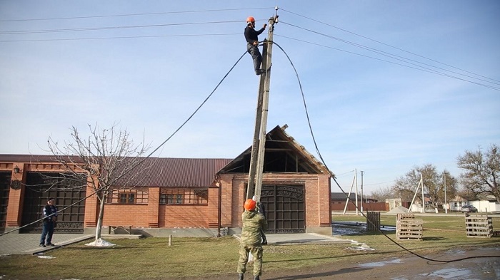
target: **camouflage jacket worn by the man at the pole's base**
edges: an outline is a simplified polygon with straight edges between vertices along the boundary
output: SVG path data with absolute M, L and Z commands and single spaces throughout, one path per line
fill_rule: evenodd
M 241 228 L 241 244 L 260 245 L 261 229 L 267 229 L 267 221 L 263 214 L 256 211 L 245 211 L 241 214 L 243 227 Z

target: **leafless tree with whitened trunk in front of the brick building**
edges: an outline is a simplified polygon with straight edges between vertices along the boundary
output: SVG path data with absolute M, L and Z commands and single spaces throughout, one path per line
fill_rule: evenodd
M 71 128 L 71 142 L 59 145 L 49 138 L 49 150 L 64 168 L 64 180 L 84 182 L 82 188 L 91 187 L 99 199 L 99 216 L 96 224 L 96 241 L 101 238 L 104 205 L 112 190 L 134 187 L 144 178 L 149 168 L 143 156 L 149 145 L 144 141 L 139 145 L 129 139 L 126 130 L 119 130 L 116 124 L 109 129 L 89 125 L 90 134 L 82 137 L 79 131 Z M 150 163 L 151 164 L 151 163 Z M 68 184 L 70 185 L 70 184 Z M 74 184 L 73 184 L 74 185 Z M 85 190 L 84 189 L 84 190 Z

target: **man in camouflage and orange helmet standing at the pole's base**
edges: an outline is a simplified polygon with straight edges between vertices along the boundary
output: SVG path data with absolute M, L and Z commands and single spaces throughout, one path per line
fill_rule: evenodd
M 241 242 L 239 247 L 239 280 L 243 280 L 246 271 L 246 262 L 249 260 L 249 253 L 254 256 L 254 280 L 259 280 L 262 269 L 261 231 L 267 229 L 267 221 L 263 214 L 256 211 L 256 202 L 253 199 L 247 199 L 244 207 L 245 212 L 241 214 L 243 227 L 241 228 Z

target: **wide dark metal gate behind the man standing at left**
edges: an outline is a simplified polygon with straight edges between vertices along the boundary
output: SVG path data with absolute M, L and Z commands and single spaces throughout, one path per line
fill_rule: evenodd
M 41 232 L 43 208 L 49 197 L 56 199 L 59 211 L 54 232 L 83 233 L 85 217 L 86 180 L 68 181 L 58 173 L 35 173 L 26 175 L 22 225 L 30 224 L 21 233 Z M 83 199 L 83 200 L 82 200 Z M 78 202 L 81 200 L 80 202 Z M 78 202 L 78 203 L 76 203 Z M 74 204 L 76 203 L 76 204 Z M 71 206 L 71 204 L 74 204 Z M 67 209 L 64 209 L 68 207 Z M 64 209 L 64 211 L 61 211 Z

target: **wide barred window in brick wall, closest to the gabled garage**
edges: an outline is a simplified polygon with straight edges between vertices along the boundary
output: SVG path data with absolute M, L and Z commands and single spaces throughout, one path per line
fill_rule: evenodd
M 169 188 L 160 190 L 160 204 L 209 204 L 208 187 Z

